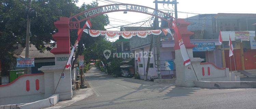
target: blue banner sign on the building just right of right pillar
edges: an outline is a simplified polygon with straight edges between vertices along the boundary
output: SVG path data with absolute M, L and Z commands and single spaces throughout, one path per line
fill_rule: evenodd
M 193 51 L 215 51 L 215 43 L 194 43 Z

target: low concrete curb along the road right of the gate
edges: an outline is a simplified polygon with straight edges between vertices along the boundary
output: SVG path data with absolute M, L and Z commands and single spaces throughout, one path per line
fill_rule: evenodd
M 256 88 L 256 81 L 194 81 L 201 88 Z

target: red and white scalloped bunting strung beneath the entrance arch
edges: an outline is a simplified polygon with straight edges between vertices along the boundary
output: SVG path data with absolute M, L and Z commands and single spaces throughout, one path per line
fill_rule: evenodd
M 131 38 L 132 36 L 138 36 L 141 38 L 147 37 L 147 35 L 159 35 L 162 32 L 167 35 L 167 33 L 171 34 L 169 28 L 167 29 L 159 29 L 159 30 L 147 30 L 147 31 L 101 31 L 101 30 L 91 30 L 91 29 L 84 29 L 84 32 L 89 34 L 92 37 L 98 37 L 99 35 L 104 35 L 108 38 L 115 38 L 117 36 L 122 36 L 124 38 Z

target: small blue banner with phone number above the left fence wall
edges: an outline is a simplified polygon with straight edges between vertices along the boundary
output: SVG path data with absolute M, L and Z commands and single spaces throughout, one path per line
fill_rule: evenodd
M 17 65 L 16 67 L 34 67 L 35 60 L 34 58 L 17 58 Z

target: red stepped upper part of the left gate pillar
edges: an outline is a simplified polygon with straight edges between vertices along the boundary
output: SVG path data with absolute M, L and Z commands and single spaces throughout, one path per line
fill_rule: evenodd
M 58 32 L 53 34 L 54 40 L 57 42 L 56 48 L 50 52 L 56 54 L 70 54 L 70 38 L 69 38 L 69 18 L 60 17 L 60 20 L 54 22 Z

